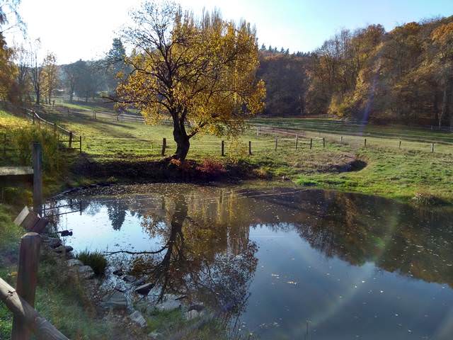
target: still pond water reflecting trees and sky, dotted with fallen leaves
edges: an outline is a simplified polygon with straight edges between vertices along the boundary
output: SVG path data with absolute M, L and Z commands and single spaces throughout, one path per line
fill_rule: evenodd
M 52 205 L 76 251 L 135 261 L 258 339 L 452 339 L 453 215 L 298 187 L 117 186 Z M 139 268 L 139 269 L 137 269 Z

